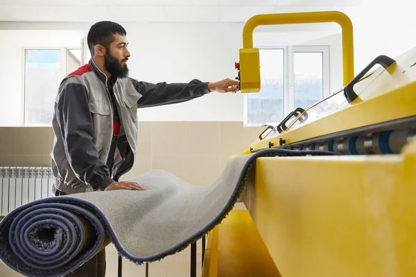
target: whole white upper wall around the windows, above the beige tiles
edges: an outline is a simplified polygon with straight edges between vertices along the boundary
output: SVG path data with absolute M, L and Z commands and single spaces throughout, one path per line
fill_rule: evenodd
M 123 24 L 128 31 L 130 76 L 147 82 L 215 82 L 236 76 L 243 24 Z M 85 32 L 85 31 L 84 31 Z M 23 48 L 79 46 L 81 31 L 0 30 L 0 125 L 20 125 L 23 115 Z M 255 32 L 254 46 L 301 44 L 324 32 Z M 315 41 L 313 44 L 320 44 Z M 4 61 L 4 62 L 3 62 Z M 12 64 L 12 66 L 10 66 Z M 243 95 L 211 93 L 189 102 L 139 109 L 142 121 L 241 121 Z

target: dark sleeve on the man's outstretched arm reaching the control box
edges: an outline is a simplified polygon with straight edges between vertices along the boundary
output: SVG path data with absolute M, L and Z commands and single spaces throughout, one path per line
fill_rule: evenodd
M 137 102 L 137 107 L 155 107 L 185 102 L 204 96 L 209 93 L 208 82 L 194 79 L 189 83 L 150 82 L 137 81 L 130 78 L 135 89 L 142 95 Z

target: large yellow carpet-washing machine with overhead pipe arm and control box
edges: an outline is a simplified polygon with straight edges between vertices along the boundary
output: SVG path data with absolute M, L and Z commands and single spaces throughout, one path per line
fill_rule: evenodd
M 352 24 L 342 13 L 257 15 L 236 64 L 241 91 L 260 89 L 256 26 L 329 21 L 343 28 L 345 87 L 267 127 L 241 154 L 338 154 L 258 158 L 241 195 L 247 210 L 209 233 L 202 276 L 416 276 L 416 48 L 373 57 L 354 77 Z

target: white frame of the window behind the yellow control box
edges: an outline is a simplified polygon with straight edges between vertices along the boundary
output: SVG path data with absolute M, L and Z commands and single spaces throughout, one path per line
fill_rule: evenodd
M 331 95 L 331 63 L 330 63 L 330 48 L 324 46 L 257 46 L 260 50 L 276 49 L 283 50 L 284 60 L 284 116 L 287 116 L 295 107 L 295 93 L 293 91 L 293 55 L 295 52 L 322 52 L 322 70 L 323 70 L 323 98 Z M 244 127 L 259 127 L 266 125 L 266 123 L 252 124 L 248 123 L 248 95 L 250 93 L 243 93 L 243 125 Z M 282 118 L 283 120 L 283 118 Z M 277 124 L 277 123 L 276 123 Z

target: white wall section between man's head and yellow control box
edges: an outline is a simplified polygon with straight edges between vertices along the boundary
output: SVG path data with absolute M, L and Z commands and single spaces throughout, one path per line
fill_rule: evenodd
M 130 76 L 148 82 L 216 82 L 234 79 L 239 59 L 241 24 L 153 24 L 128 30 Z M 142 121 L 226 120 L 243 118 L 241 94 L 211 93 L 164 107 L 139 109 Z

